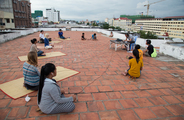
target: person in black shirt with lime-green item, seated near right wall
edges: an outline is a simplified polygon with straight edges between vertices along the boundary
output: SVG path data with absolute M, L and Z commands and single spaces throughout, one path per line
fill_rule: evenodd
M 147 50 L 143 52 L 145 56 L 150 56 L 150 57 L 156 57 L 157 52 L 156 49 L 151 45 L 151 40 L 146 40 L 146 45 L 148 45 Z

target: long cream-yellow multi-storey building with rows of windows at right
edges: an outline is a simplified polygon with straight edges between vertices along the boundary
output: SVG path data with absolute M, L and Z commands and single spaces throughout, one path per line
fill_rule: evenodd
M 132 26 L 132 29 L 135 32 L 139 30 L 151 31 L 159 36 L 167 32 L 171 38 L 184 39 L 184 16 L 139 19 L 135 20 L 135 25 Z

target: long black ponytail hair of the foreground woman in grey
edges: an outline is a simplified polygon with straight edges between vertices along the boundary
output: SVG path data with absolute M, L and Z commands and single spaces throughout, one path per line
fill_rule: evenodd
M 47 63 L 41 68 L 40 82 L 39 82 L 39 89 L 38 89 L 38 104 L 40 104 L 40 101 L 41 101 L 42 89 L 44 86 L 45 78 L 51 72 L 54 72 L 55 69 L 56 69 L 56 66 L 52 63 Z

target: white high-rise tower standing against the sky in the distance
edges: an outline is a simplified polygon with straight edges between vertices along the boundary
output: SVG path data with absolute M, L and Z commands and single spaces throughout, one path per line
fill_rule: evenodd
M 46 9 L 46 17 L 48 17 L 49 22 L 59 22 L 60 11 L 56 11 L 54 8 Z

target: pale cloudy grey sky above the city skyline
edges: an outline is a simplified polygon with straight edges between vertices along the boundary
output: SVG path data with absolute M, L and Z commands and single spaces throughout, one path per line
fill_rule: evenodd
M 149 0 L 154 3 L 160 0 Z M 138 15 L 146 14 L 144 7 L 148 0 L 30 0 L 31 11 L 43 10 L 46 16 L 46 8 L 55 8 L 61 13 L 61 19 L 72 20 L 100 20 L 119 17 L 122 14 Z M 164 0 L 152 4 L 149 15 L 155 17 L 184 16 L 184 0 Z

